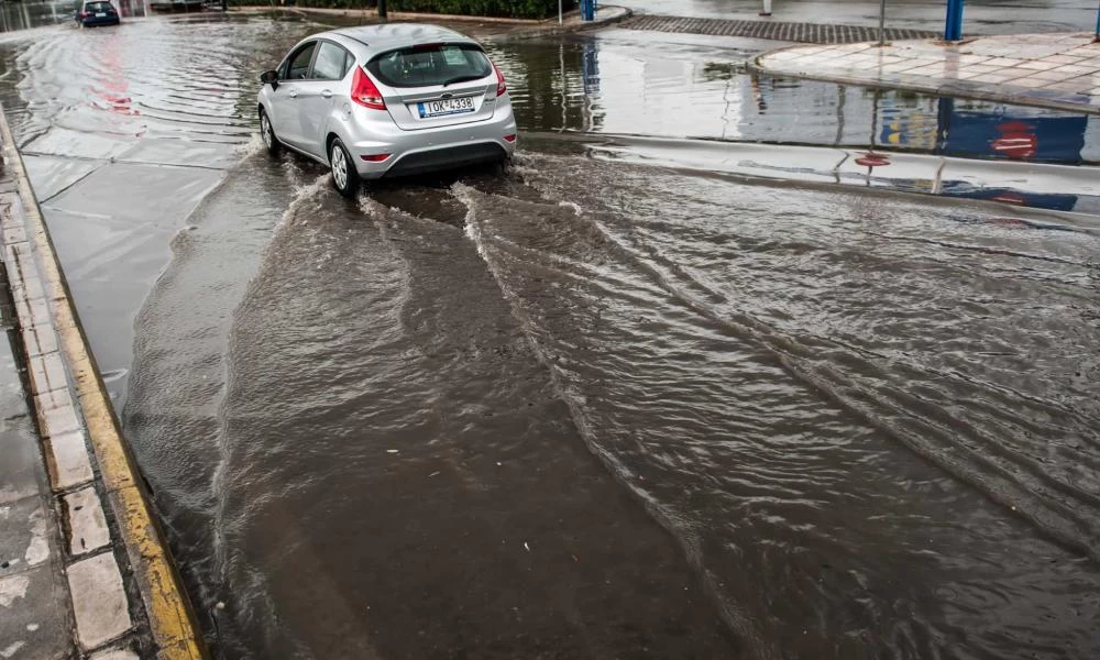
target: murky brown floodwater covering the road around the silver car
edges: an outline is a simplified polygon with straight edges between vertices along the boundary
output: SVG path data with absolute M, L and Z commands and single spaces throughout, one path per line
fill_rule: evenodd
M 748 44 L 608 31 L 494 46 L 527 132 L 504 174 L 349 202 L 252 136 L 254 72 L 312 30 L 147 20 L 0 46 L 218 657 L 1100 652 L 1100 221 L 1080 199 L 598 147 L 994 167 L 997 127 L 1024 118 L 1045 163 L 1026 167 L 1087 177 L 1094 121 L 754 79 Z M 64 85 L 89 57 L 112 73 Z

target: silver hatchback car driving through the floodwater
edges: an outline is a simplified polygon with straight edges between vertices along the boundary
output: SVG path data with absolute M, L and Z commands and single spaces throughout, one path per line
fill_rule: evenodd
M 261 77 L 264 144 L 361 179 L 509 158 L 516 119 L 504 76 L 472 38 L 426 24 L 383 24 L 302 40 Z

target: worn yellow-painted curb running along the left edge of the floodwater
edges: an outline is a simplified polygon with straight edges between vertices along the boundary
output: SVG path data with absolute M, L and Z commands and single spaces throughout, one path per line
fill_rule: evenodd
M 50 300 L 54 327 L 61 339 L 61 350 L 75 380 L 77 397 L 88 426 L 88 437 L 145 604 L 157 658 L 206 660 L 209 652 L 196 625 L 172 554 L 153 518 L 141 480 L 138 479 L 134 459 L 114 419 L 107 388 L 88 349 L 61 262 L 54 252 L 37 198 L 26 176 L 23 157 L 15 148 L 15 140 L 2 107 L 0 139 L 3 141 L 6 165 L 11 168 L 19 185 L 19 195 L 26 215 L 28 240 L 34 243 L 38 252 L 44 275 L 43 286 Z

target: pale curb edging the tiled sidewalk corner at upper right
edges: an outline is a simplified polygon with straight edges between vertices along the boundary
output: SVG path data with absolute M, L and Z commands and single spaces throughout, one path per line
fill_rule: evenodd
M 864 42 L 871 44 L 873 42 Z M 944 80 L 938 79 L 937 84 L 924 82 L 921 78 L 898 76 L 893 79 L 883 80 L 881 78 L 859 78 L 855 76 L 842 76 L 832 74 L 812 74 L 796 69 L 783 69 L 766 66 L 763 58 L 782 53 L 804 48 L 807 44 L 784 46 L 774 48 L 757 55 L 746 63 L 746 68 L 750 73 L 762 74 L 773 77 L 801 78 L 805 80 L 821 80 L 823 82 L 836 82 L 838 85 L 851 85 L 855 87 L 868 87 L 871 89 L 905 90 L 916 91 L 931 96 L 956 97 L 975 99 L 979 101 L 993 101 L 999 103 L 1011 103 L 1013 106 L 1030 106 L 1033 108 L 1048 108 L 1052 110 L 1066 110 L 1069 112 L 1085 112 L 1088 114 L 1100 114 L 1100 107 L 1090 103 L 1079 103 L 1059 99 L 1048 99 L 1033 95 L 1013 95 L 998 91 L 997 88 L 989 88 L 983 85 L 968 84 L 966 80 Z M 923 78 L 923 77 L 922 77 Z M 936 79 L 933 79 L 936 80 Z

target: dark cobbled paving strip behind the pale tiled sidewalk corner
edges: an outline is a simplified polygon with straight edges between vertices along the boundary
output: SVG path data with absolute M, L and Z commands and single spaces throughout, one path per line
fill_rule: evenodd
M 776 21 L 732 21 L 727 19 L 688 19 L 683 16 L 642 15 L 618 23 L 628 30 L 653 30 L 657 32 L 680 32 L 686 34 L 710 34 L 716 36 L 751 36 L 805 44 L 851 44 L 878 41 L 878 28 L 859 25 L 824 25 L 820 23 L 783 23 Z M 935 32 L 926 30 L 902 30 L 888 28 L 886 37 L 890 41 L 903 38 L 933 38 Z

